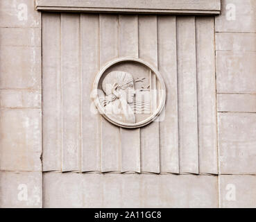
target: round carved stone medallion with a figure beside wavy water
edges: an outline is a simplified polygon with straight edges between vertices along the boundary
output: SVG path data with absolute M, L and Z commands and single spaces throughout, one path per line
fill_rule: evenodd
M 138 128 L 156 121 L 165 104 L 160 73 L 139 58 L 118 58 L 99 71 L 93 86 L 96 108 L 111 123 Z

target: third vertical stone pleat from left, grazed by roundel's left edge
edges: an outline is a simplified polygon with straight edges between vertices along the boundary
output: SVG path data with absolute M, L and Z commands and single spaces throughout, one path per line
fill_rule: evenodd
M 92 101 L 99 71 L 99 15 L 81 14 L 82 171 L 101 171 L 100 116 Z

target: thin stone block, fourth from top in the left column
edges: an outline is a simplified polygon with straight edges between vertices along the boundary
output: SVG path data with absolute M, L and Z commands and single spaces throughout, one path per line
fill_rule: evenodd
M 41 108 L 41 91 L 0 89 L 0 108 Z

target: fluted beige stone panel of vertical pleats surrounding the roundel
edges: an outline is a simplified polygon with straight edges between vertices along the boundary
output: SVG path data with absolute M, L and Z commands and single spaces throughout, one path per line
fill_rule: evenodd
M 217 173 L 212 17 L 43 13 L 42 20 L 44 171 Z M 99 66 L 121 56 L 151 62 L 167 87 L 163 121 L 137 133 L 88 114 Z

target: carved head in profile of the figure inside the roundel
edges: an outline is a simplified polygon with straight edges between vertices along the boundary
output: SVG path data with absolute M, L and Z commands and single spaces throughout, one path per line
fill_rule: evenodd
M 133 103 L 135 86 L 133 76 L 126 71 L 111 71 L 105 76 L 102 83 L 106 96 L 112 96 L 112 100 L 122 97 L 127 103 Z

